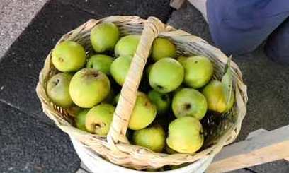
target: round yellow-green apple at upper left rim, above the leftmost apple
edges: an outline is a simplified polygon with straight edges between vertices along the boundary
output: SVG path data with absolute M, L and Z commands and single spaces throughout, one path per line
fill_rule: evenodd
M 64 41 L 52 50 L 52 64 L 62 72 L 78 71 L 86 63 L 85 50 L 77 42 Z

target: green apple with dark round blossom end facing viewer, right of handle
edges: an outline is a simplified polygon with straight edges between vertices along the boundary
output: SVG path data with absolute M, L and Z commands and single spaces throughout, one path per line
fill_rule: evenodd
M 174 95 L 171 107 L 177 118 L 191 116 L 203 119 L 208 105 L 205 96 L 198 90 L 182 88 Z

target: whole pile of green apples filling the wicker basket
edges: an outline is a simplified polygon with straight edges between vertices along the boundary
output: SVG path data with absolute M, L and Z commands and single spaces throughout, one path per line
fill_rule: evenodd
M 90 39 L 92 54 L 72 40 L 52 50 L 52 64 L 60 73 L 48 80 L 47 95 L 65 109 L 78 107 L 77 128 L 106 136 L 140 35 L 120 37 L 115 24 L 99 23 L 91 30 Z M 228 92 L 228 77 L 212 80 L 210 59 L 176 57 L 176 49 L 165 37 L 154 40 L 128 138 L 157 153 L 196 153 L 204 141 L 200 120 L 207 112 L 228 112 L 234 93 Z

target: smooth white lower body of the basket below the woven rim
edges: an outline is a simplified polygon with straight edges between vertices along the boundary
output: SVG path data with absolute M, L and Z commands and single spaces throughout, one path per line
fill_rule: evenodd
M 144 171 L 137 171 L 128 169 L 125 167 L 120 167 L 118 165 L 114 165 L 111 162 L 108 162 L 107 160 L 104 160 L 103 158 L 99 157 L 97 153 L 95 153 L 93 150 L 89 148 L 85 148 L 84 145 L 81 145 L 79 141 L 76 139 L 70 137 L 72 140 L 72 144 L 74 145 L 75 150 L 77 151 L 77 155 L 79 155 L 82 162 L 84 162 L 84 165 L 90 169 L 93 173 L 101 173 L 101 172 L 112 172 L 112 173 L 120 173 L 120 172 L 126 172 L 126 173 L 144 173 Z M 180 169 L 174 169 L 165 171 L 166 173 L 202 173 L 205 171 L 205 169 L 208 168 L 210 163 L 212 162 L 213 156 L 200 159 L 197 162 L 194 162 L 191 165 L 188 165 L 186 167 L 181 167 Z M 156 172 L 158 173 L 158 172 Z M 162 173 L 162 172 L 159 172 Z

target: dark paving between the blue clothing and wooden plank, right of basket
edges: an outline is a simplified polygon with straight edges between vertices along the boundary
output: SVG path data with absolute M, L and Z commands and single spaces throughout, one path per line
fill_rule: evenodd
M 263 47 L 235 56 L 248 86 L 249 102 L 238 140 L 251 131 L 278 129 L 289 123 L 289 66 L 276 64 L 263 54 Z

